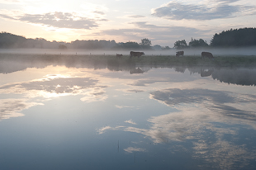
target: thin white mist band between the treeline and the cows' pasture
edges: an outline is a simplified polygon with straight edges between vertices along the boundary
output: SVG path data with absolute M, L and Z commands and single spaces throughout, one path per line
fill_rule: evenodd
M 59 50 L 59 49 L 0 49 L 0 53 L 10 54 L 78 54 L 78 55 L 130 55 L 130 51 L 143 51 L 145 55 L 175 55 L 176 49 L 171 50 Z M 211 52 L 214 56 L 225 55 L 256 55 L 256 47 L 244 48 L 198 48 L 183 49 L 184 55 L 201 55 L 202 51 Z

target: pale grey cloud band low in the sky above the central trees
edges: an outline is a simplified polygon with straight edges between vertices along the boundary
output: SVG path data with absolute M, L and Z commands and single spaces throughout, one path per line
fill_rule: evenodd
M 135 28 L 102 30 L 92 35 L 121 36 L 126 40 L 141 40 L 147 37 L 154 43 L 169 45 L 170 40 L 173 40 L 174 44 L 175 40 L 186 39 L 187 37 L 208 38 L 209 35 L 207 34 L 211 32 L 188 26 L 156 26 L 146 21 L 130 22 L 130 24 L 134 25 Z

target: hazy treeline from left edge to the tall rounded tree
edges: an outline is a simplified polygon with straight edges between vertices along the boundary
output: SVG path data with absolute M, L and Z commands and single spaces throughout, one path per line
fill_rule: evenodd
M 63 42 L 56 40 L 48 41 L 43 38 L 26 39 L 21 35 L 13 35 L 7 32 L 0 33 L 0 48 L 38 48 L 38 49 L 85 49 L 85 50 L 133 50 L 151 49 L 151 40 L 142 39 L 140 43 L 129 41 L 116 43 L 115 40 L 74 40 Z

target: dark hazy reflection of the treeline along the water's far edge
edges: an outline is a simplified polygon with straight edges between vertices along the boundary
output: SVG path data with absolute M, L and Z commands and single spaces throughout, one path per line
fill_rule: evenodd
M 27 55 L 27 54 L 1 54 L 0 73 L 12 73 L 26 68 L 45 68 L 49 65 L 64 65 L 67 68 L 94 68 L 111 71 L 127 71 L 133 73 L 145 73 L 150 68 L 173 68 L 179 73 L 184 73 L 186 69 L 190 73 L 198 73 L 201 77 L 210 77 L 223 83 L 234 83 L 239 85 L 256 85 L 255 69 L 232 67 L 214 67 L 197 65 L 177 65 L 177 64 L 155 64 L 154 62 L 138 63 L 137 60 L 124 56 L 116 59 L 116 56 L 102 58 L 102 56 L 75 56 L 75 55 Z M 138 67 L 142 70 L 138 70 Z

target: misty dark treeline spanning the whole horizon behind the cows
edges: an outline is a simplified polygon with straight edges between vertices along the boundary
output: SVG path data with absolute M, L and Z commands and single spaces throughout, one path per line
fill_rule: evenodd
M 193 39 L 177 40 L 173 48 L 198 48 L 198 47 L 244 47 L 256 45 L 256 28 L 241 28 L 239 30 L 222 31 L 213 35 L 210 45 L 206 40 Z M 24 36 L 13 35 L 7 32 L 0 33 L 0 48 L 40 48 L 40 49 L 84 49 L 84 50 L 169 50 L 169 46 L 151 45 L 151 40 L 145 38 L 140 43 L 129 41 L 116 43 L 115 40 L 75 40 L 72 42 L 48 41 L 43 38 L 26 39 Z

